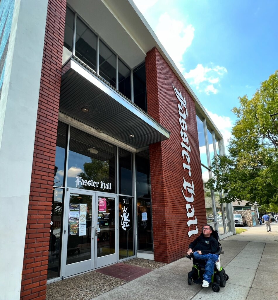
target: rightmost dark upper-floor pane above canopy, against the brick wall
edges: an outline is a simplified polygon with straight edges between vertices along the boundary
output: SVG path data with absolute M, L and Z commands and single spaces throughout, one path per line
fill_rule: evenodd
M 133 70 L 134 103 L 147 111 L 147 88 L 145 62 Z

